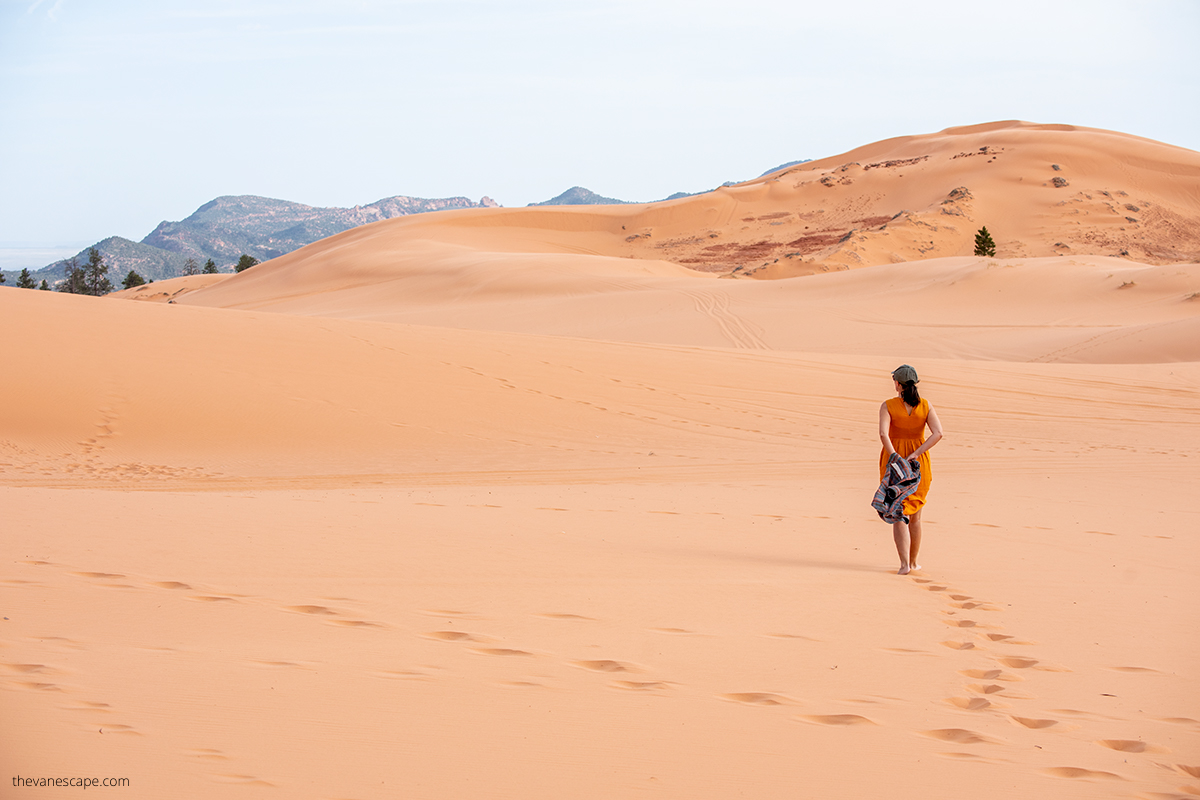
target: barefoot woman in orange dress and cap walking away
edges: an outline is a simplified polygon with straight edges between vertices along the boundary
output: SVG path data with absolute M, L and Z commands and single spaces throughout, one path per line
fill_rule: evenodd
M 920 465 L 920 483 L 904 501 L 904 512 L 908 522 L 899 519 L 892 523 L 892 536 L 900 555 L 898 575 L 908 575 L 920 569 L 917 564 L 917 552 L 920 549 L 920 510 L 925 505 L 925 495 L 929 494 L 929 485 L 934 479 L 929 450 L 942 440 L 942 423 L 938 422 L 937 413 L 930 407 L 929 401 L 922 399 L 920 392 L 917 391 L 920 379 L 917 378 L 916 369 L 906 363 L 901 365 L 892 373 L 892 381 L 896 387 L 896 397 L 880 407 L 880 441 L 883 443 L 883 452 L 880 453 L 880 480 L 883 480 L 888 458 L 893 453 L 899 453 L 901 458 Z M 926 426 L 929 439 L 925 438 Z

